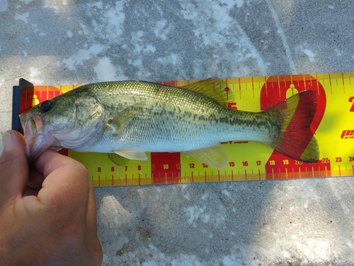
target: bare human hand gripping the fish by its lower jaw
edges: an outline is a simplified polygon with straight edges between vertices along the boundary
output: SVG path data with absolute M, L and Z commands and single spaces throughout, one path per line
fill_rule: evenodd
M 48 149 L 29 169 L 25 140 L 3 135 L 0 265 L 101 265 L 96 202 L 80 162 Z

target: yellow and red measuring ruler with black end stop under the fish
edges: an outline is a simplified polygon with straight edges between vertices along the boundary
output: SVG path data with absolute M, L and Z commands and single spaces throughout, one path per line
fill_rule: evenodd
M 229 108 L 243 111 L 263 111 L 297 92 L 316 91 L 318 104 L 311 128 L 319 143 L 320 160 L 312 164 L 300 162 L 267 145 L 247 140 L 222 143 L 229 157 L 225 170 L 215 170 L 182 153 L 147 153 L 149 161 L 130 160 L 122 167 L 101 153 L 71 150 L 63 153 L 87 167 L 94 187 L 354 175 L 354 72 L 223 80 L 227 92 L 234 94 Z M 160 83 L 184 86 L 192 82 L 196 81 Z M 23 113 L 41 101 L 79 87 L 37 86 L 24 79 L 20 83 L 14 87 L 13 129 L 19 129 L 18 112 Z

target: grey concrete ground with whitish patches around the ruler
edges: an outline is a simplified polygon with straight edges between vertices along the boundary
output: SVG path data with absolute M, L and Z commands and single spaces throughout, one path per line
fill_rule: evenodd
M 0 0 L 0 133 L 21 77 L 354 71 L 353 13 L 349 0 Z M 95 189 L 103 265 L 354 265 L 353 178 Z

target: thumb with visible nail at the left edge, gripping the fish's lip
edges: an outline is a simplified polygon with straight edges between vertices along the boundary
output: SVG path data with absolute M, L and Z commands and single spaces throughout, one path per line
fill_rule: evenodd
M 0 206 L 23 195 L 28 183 L 28 160 L 25 140 L 17 131 L 2 135 L 3 151 L 0 157 Z

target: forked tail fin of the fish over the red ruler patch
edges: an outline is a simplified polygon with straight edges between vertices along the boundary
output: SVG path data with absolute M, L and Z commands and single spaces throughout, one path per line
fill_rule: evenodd
M 280 153 L 303 162 L 319 160 L 319 145 L 311 123 L 316 113 L 316 92 L 300 92 L 265 112 L 278 117 L 278 135 L 267 143 Z

